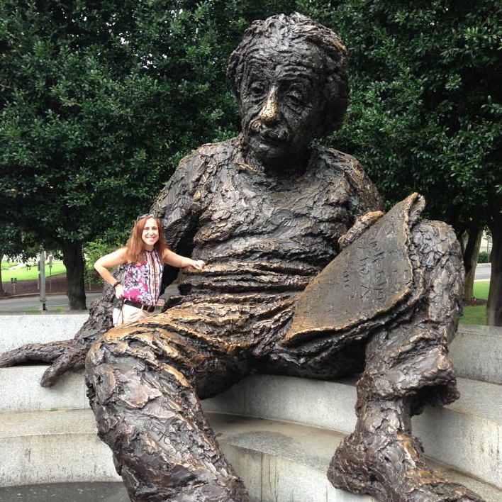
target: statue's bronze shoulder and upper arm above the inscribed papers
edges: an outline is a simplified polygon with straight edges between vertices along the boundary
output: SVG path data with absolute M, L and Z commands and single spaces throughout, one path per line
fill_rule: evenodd
M 316 155 L 320 160 L 320 169 L 326 169 L 334 179 L 345 179 L 358 206 L 364 208 L 364 211 L 381 210 L 383 202 L 379 191 L 359 160 L 335 148 L 322 146 L 316 146 Z

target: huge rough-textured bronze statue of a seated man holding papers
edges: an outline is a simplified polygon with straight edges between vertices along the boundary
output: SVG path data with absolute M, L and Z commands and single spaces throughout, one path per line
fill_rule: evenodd
M 242 135 L 182 160 L 152 206 L 189 269 L 164 313 L 108 330 L 108 289 L 74 340 L 4 355 L 84 364 L 99 435 L 133 501 L 246 501 L 199 402 L 252 372 L 362 372 L 357 426 L 328 478 L 382 501 L 479 501 L 432 472 L 411 416 L 457 398 L 447 341 L 462 260 L 413 194 L 382 216 L 357 160 L 312 144 L 347 107 L 347 55 L 299 14 L 257 21 L 230 56 Z M 106 332 L 106 333 L 105 333 Z M 96 341 L 97 340 L 97 341 Z

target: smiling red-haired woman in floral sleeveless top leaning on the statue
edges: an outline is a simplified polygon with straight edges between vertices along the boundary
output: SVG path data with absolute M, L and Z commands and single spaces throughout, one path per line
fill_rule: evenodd
M 160 220 L 153 214 L 138 216 L 125 247 L 105 255 L 94 264 L 103 279 L 123 298 L 121 316 L 114 324 L 124 324 L 151 316 L 160 296 L 164 263 L 173 267 L 202 270 L 202 260 L 192 260 L 167 249 Z M 117 281 L 109 269 L 126 264 L 123 280 Z

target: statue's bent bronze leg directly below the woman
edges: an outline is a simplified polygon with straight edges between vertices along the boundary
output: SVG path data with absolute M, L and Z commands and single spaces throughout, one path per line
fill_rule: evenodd
M 228 345 L 167 313 L 114 328 L 89 351 L 99 436 L 132 501 L 247 501 L 197 397 L 245 373 L 245 356 Z

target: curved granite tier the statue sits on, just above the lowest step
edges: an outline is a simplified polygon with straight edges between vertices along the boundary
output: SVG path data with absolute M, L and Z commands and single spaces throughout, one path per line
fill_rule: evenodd
M 4 413 L 89 408 L 82 372 L 45 389 L 36 383 L 44 369 L 0 369 L 0 421 Z M 426 408 L 413 418 L 413 433 L 429 457 L 502 487 L 502 386 L 470 379 L 459 379 L 458 385 L 461 398 L 443 408 Z M 355 401 L 355 379 L 253 375 L 203 401 L 203 408 L 350 433 Z

